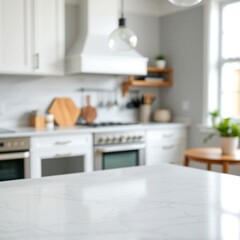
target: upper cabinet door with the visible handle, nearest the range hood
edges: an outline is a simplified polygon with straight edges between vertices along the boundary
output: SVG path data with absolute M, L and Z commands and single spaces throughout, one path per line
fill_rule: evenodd
M 64 0 L 34 0 L 35 73 L 62 75 L 64 46 Z

